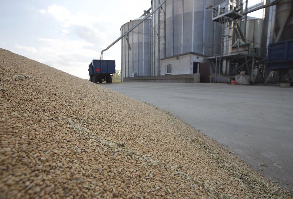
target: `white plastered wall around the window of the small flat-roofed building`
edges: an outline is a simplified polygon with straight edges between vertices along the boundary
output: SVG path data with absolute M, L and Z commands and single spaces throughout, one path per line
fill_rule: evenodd
M 182 55 L 161 60 L 161 75 L 166 74 L 166 65 L 172 65 L 172 75 L 191 74 L 190 55 Z

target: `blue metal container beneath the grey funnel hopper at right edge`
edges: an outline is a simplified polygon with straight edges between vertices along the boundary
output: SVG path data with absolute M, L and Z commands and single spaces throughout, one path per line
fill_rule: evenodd
M 293 68 L 293 39 L 269 44 L 267 68 Z

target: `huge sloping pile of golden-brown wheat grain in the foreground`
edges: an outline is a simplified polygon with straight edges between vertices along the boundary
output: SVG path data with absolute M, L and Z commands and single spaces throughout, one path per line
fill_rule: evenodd
M 0 66 L 0 198 L 290 197 L 158 108 L 3 49 Z

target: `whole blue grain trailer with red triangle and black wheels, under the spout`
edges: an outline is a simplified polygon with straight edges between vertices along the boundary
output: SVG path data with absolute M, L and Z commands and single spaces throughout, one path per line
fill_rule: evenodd
M 112 83 L 115 72 L 115 60 L 94 59 L 89 65 L 90 81 L 94 83 Z

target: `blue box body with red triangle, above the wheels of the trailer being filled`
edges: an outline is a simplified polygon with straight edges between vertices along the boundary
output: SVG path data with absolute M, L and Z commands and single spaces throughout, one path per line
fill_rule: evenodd
M 90 76 L 115 73 L 115 60 L 94 59 L 89 65 Z

